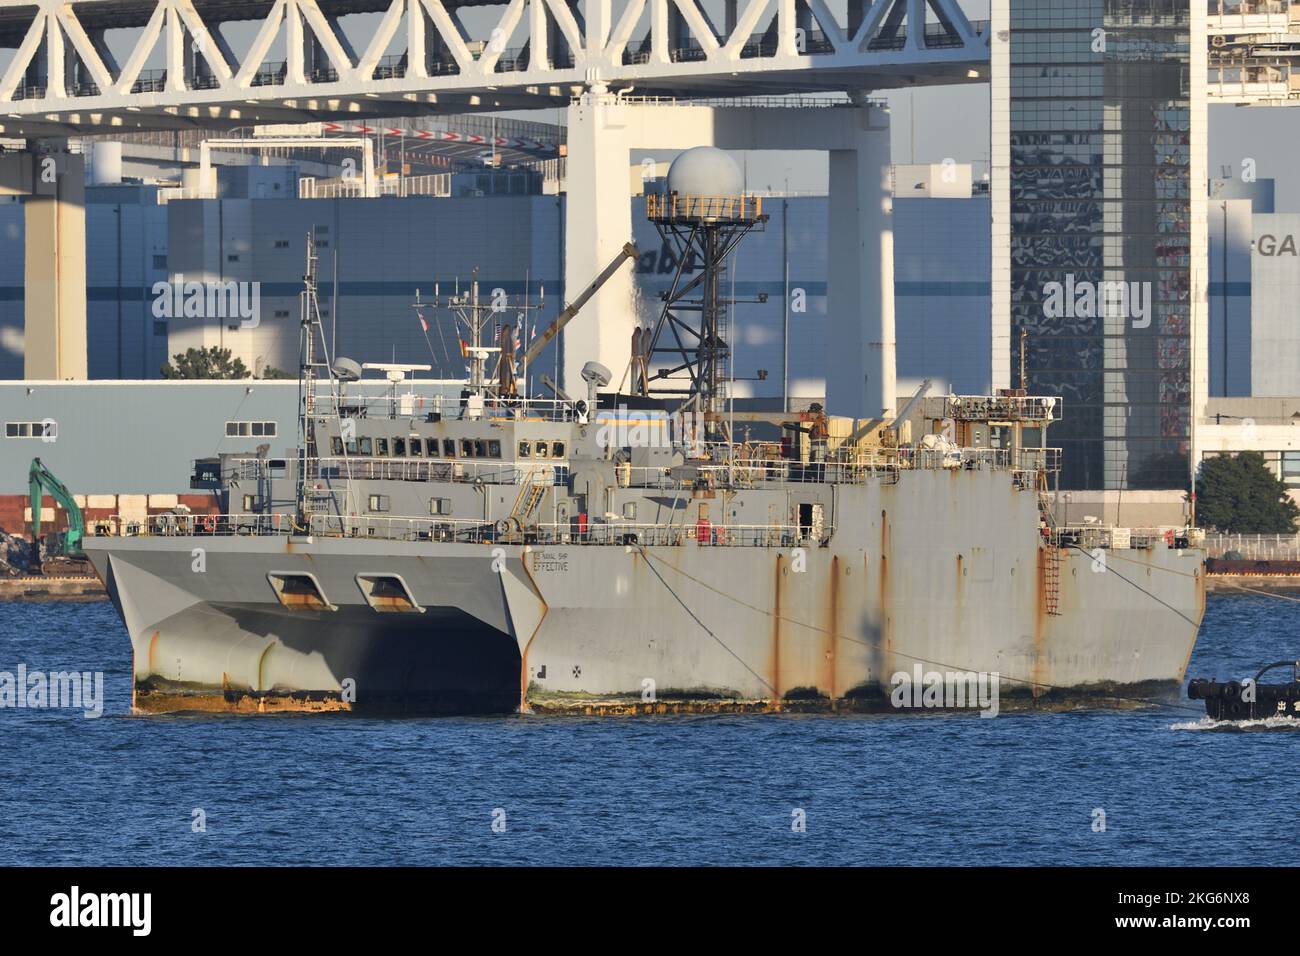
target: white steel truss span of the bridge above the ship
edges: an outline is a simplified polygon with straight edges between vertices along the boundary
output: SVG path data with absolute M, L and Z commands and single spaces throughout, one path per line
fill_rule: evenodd
M 0 134 L 978 82 L 985 34 L 958 0 L 0 0 Z

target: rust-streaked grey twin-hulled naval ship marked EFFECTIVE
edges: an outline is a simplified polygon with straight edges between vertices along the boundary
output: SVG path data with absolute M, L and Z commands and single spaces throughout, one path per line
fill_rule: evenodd
M 411 388 L 428 367 L 318 360 L 308 243 L 296 447 L 196 462 L 213 514 L 84 542 L 135 706 L 888 709 L 919 671 L 996 674 L 1004 706 L 1176 692 L 1197 532 L 1060 525 L 1060 401 L 923 386 L 881 419 L 733 411 L 723 274 L 760 200 L 671 190 L 647 212 L 703 268 L 638 333 L 625 394 L 595 363 L 585 394 L 521 394 L 516 330 L 476 287 L 447 300 L 469 373 L 442 397 Z

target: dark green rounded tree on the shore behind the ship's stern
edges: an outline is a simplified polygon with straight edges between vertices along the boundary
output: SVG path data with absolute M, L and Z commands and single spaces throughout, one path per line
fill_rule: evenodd
M 1294 535 L 1300 509 L 1258 451 L 1208 458 L 1196 481 L 1196 522 L 1234 535 Z

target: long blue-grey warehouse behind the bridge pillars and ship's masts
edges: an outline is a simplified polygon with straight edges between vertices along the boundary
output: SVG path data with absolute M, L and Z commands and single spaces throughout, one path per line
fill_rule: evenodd
M 633 172 L 640 187 L 642 166 Z M 92 378 L 155 378 L 170 355 L 212 345 L 231 349 L 255 375 L 294 369 L 308 234 L 320 258 L 322 319 L 338 352 L 360 362 L 396 356 L 459 373 L 446 313 L 439 337 L 438 313 L 424 312 L 426 337 L 412 306 L 417 290 L 428 302 L 436 284 L 446 295 L 476 269 L 485 294 L 503 289 L 514 302 L 526 293 L 541 304 L 529 313 L 530 324 L 549 321 L 564 304 L 564 193 L 298 199 L 291 166 L 233 165 L 221 169 L 221 178 L 222 199 L 161 202 L 165 191 L 151 185 L 87 190 Z M 965 164 L 897 166 L 893 178 L 898 390 L 907 394 L 930 378 L 936 392 L 984 392 L 987 193 L 979 185 L 972 190 Z M 646 185 L 653 190 L 655 181 Z M 634 302 L 649 324 L 676 263 L 646 220 L 644 198 L 625 202 L 642 251 L 630 271 Z M 737 298 L 767 297 L 738 307 L 734 394 L 780 402 L 788 392 L 792 403 L 807 403 L 826 395 L 828 200 L 772 195 L 763 211 L 766 226 L 746 239 L 732 269 Z M 0 204 L 0 378 L 22 377 L 22 229 L 21 206 Z M 259 282 L 252 328 L 155 313 L 159 282 L 231 280 Z M 545 355 L 538 373 L 554 377 L 555 360 Z

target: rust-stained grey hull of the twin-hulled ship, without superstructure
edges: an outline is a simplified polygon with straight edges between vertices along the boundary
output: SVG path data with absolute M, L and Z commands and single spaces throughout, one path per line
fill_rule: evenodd
M 918 666 L 997 674 L 1004 700 L 1179 687 L 1201 551 L 1046 548 L 1035 494 L 1006 473 L 838 494 L 826 546 L 200 535 L 86 550 L 146 710 L 888 708 Z M 410 606 L 376 609 L 359 580 L 376 575 Z M 317 606 L 286 606 L 286 576 L 309 578 Z

